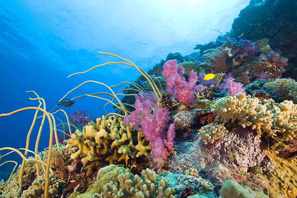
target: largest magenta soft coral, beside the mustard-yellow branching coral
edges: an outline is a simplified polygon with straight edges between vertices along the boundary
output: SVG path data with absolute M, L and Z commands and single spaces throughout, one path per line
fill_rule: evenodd
M 169 110 L 156 107 L 157 97 L 154 94 L 150 96 L 148 93 L 139 93 L 135 94 L 135 97 L 136 109 L 131 115 L 124 117 L 124 124 L 127 127 L 130 123 L 134 123 L 133 128 L 136 130 L 141 127 L 144 137 L 151 142 L 155 162 L 159 163 L 160 160 L 157 160 L 159 158 L 165 161 L 167 159 L 167 148 L 172 149 L 175 137 L 174 124 L 169 126 L 166 133 L 167 124 L 170 121 Z M 161 165 L 159 164 L 159 166 Z

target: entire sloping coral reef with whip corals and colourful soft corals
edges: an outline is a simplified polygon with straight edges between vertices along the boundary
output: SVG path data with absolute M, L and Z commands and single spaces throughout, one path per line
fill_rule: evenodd
M 117 87 L 117 93 L 113 86 L 84 82 L 109 89 L 84 95 L 113 104 L 116 112 L 106 117 L 94 119 L 77 109 L 69 123 L 64 112 L 67 123 L 60 124 L 59 134 L 36 93 L 39 107 L 0 114 L 33 109 L 32 128 L 38 111 L 50 126 L 49 147 L 40 153 L 39 136 L 35 151 L 29 150 L 32 131 L 24 154 L 0 148 L 2 155 L 12 150 L 23 159 L 17 172 L 0 182 L 0 197 L 296 197 L 297 8 L 287 5 L 250 1 L 230 33 L 196 45 L 200 52 L 169 53 L 148 73 L 100 52 L 141 74 L 134 82 L 120 83 L 124 88 Z M 85 72 L 72 75 L 80 73 Z M 64 99 L 67 94 L 61 104 L 73 104 Z M 68 133 L 70 139 L 61 142 L 67 145 L 53 145 Z

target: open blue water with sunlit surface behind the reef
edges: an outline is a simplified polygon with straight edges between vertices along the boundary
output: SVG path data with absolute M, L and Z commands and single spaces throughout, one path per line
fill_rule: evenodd
M 32 93 L 44 98 L 49 111 L 61 97 L 86 80 L 115 85 L 137 78 L 136 69 L 126 65 L 106 65 L 67 78 L 97 64 L 119 59 L 98 54 L 113 53 L 147 71 L 166 59 L 168 53 L 188 55 L 196 44 L 215 41 L 219 33 L 230 31 L 233 19 L 248 0 L 185 1 L 0 1 L 0 114 L 23 107 L 37 107 Z M 67 96 L 108 91 L 87 83 Z M 106 102 L 92 97 L 75 99 L 71 107 L 61 107 L 68 115 L 75 109 L 101 116 Z M 107 107 L 107 111 L 112 111 Z M 0 117 L 0 148 L 24 148 L 34 110 Z M 59 113 L 60 114 L 60 113 Z M 41 114 L 40 114 L 41 115 Z M 61 115 L 56 117 L 65 118 Z M 39 119 L 40 120 L 40 119 Z M 40 121 L 31 135 L 34 150 Z M 46 122 L 47 123 L 47 122 Z M 39 150 L 48 147 L 47 124 Z M 35 138 L 35 140 L 34 140 Z M 2 155 L 4 151 L 0 152 Z M 15 159 L 10 154 L 1 160 Z M 10 171 L 7 164 L 2 171 Z M 0 174 L 0 179 L 3 174 Z

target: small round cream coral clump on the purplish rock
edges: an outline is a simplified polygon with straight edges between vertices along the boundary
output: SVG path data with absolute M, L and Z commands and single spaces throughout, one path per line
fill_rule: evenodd
M 212 144 L 215 140 L 223 137 L 224 133 L 228 133 L 228 130 L 225 128 L 224 124 L 211 123 L 209 125 L 201 127 L 197 134 L 201 138 L 201 141 L 204 142 L 204 144 Z

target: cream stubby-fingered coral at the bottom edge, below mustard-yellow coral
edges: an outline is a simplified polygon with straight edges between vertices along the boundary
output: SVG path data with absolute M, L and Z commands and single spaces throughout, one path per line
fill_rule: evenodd
M 156 172 L 143 170 L 141 177 L 133 175 L 129 169 L 126 173 L 118 175 L 119 182 L 107 183 L 103 186 L 103 195 L 101 198 L 125 197 L 125 198 L 177 198 L 175 189 L 168 187 L 169 179 L 159 177 Z

